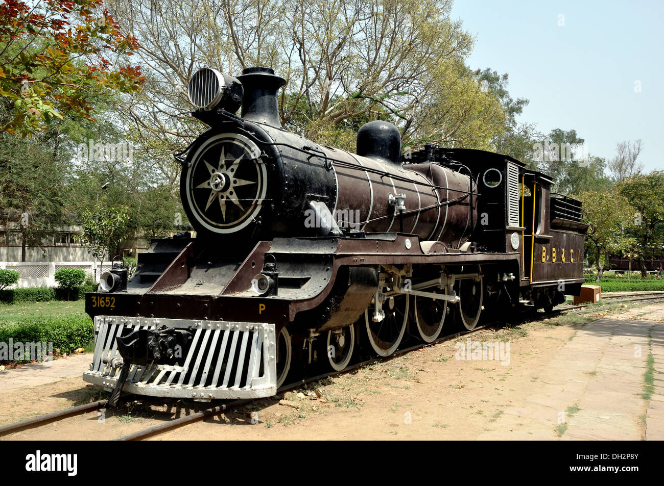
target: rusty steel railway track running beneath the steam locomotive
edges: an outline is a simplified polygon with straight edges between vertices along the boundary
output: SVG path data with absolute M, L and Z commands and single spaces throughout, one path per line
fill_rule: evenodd
M 616 295 L 616 296 L 606 296 L 602 298 L 602 301 L 610 301 L 610 302 L 645 302 L 649 300 L 664 300 L 664 292 L 649 292 L 646 294 L 622 294 L 622 295 Z M 600 301 L 600 302 L 602 302 Z M 578 306 L 559 306 L 558 308 L 554 308 L 552 312 L 548 314 L 540 314 L 538 318 L 541 317 L 546 317 L 546 316 L 556 316 L 558 314 L 563 314 L 564 312 L 569 312 L 572 310 L 578 310 L 582 308 L 586 308 L 590 305 L 593 305 L 592 302 L 586 303 L 586 304 L 581 304 Z M 365 361 L 359 361 L 358 363 L 355 363 L 353 365 L 349 365 L 342 371 L 331 371 L 329 373 L 323 373 L 321 375 L 316 375 L 313 377 L 307 377 L 305 379 L 302 379 L 300 381 L 296 381 L 293 383 L 290 383 L 288 385 L 284 385 L 281 387 L 277 393 L 285 393 L 287 391 L 291 391 L 297 387 L 301 387 L 303 385 L 307 385 L 308 383 L 313 383 L 315 381 L 319 381 L 325 378 L 329 377 L 334 377 L 337 375 L 341 375 L 343 373 L 349 373 L 350 371 L 354 371 L 355 369 L 358 369 L 360 367 L 364 367 L 367 365 L 370 365 L 371 363 L 376 363 L 376 362 L 382 362 L 382 361 L 390 361 L 391 359 L 394 359 L 395 357 L 404 355 L 406 353 L 409 353 L 410 351 L 413 351 L 414 349 L 421 349 L 422 347 L 428 347 L 432 345 L 436 345 L 438 343 L 441 343 L 443 341 L 450 341 L 452 339 L 456 339 L 457 337 L 461 337 L 462 335 L 468 335 L 468 334 L 474 334 L 476 332 L 479 332 L 483 329 L 486 328 L 491 328 L 493 326 L 496 326 L 497 324 L 502 324 L 501 322 L 489 322 L 486 324 L 483 324 L 481 326 L 477 326 L 473 330 L 463 330 L 460 332 L 456 332 L 453 334 L 448 334 L 442 337 L 439 337 L 436 339 L 436 341 L 433 341 L 432 343 L 416 343 L 415 345 L 406 347 L 404 349 L 400 349 L 396 351 L 393 355 L 390 355 L 388 357 L 372 357 L 371 359 L 367 359 Z M 128 395 L 127 395 L 128 396 Z M 176 428 L 180 428 L 182 426 L 185 426 L 187 424 L 192 424 L 194 422 L 200 422 L 201 420 L 205 420 L 205 418 L 220 414 L 222 412 L 226 412 L 228 410 L 232 410 L 234 408 L 237 408 L 239 406 L 244 406 L 250 402 L 253 402 L 255 400 L 260 400 L 260 398 L 244 398 L 242 400 L 230 400 L 228 402 L 219 404 L 218 406 L 214 406 L 211 408 L 207 408 L 205 410 L 201 410 L 199 412 L 195 412 L 193 414 L 189 414 L 187 416 L 181 417 L 181 418 L 176 418 L 173 420 L 170 420 L 169 422 L 165 422 L 163 424 L 159 424 L 157 426 L 153 426 L 144 430 L 139 430 L 138 432 L 133 432 L 132 434 L 128 434 L 126 436 L 122 436 L 120 438 L 116 438 L 114 440 L 119 440 L 119 441 L 129 441 L 129 440 L 144 440 L 159 434 L 163 434 L 165 432 L 168 432 L 169 430 L 173 430 Z M 76 416 L 76 415 L 82 415 L 86 414 L 88 412 L 92 412 L 94 410 L 100 410 L 108 404 L 108 400 L 99 400 L 97 402 L 92 402 L 84 405 L 79 405 L 79 406 L 74 406 L 71 408 L 66 408 L 65 410 L 60 410 L 58 412 L 52 412 L 50 414 L 45 414 L 41 416 L 37 416 L 34 418 L 30 418 L 27 420 L 22 420 L 21 422 L 15 422 L 14 424 L 7 424 L 5 426 L 0 426 L 0 437 L 1 436 L 7 436 L 8 434 L 13 434 L 15 432 L 19 432 L 21 430 L 25 430 L 27 428 L 36 428 L 40 426 L 44 426 L 46 424 L 50 424 L 52 422 L 58 421 L 58 420 L 63 420 L 64 418 L 68 418 L 71 416 Z

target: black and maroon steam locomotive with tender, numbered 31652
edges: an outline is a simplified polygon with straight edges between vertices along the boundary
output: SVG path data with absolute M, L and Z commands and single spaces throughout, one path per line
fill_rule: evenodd
M 269 68 L 203 68 L 187 88 L 209 128 L 181 156 L 196 230 L 155 239 L 87 294 L 84 380 L 193 400 L 274 395 L 293 357 L 342 370 L 358 349 L 550 310 L 584 282 L 580 202 L 509 156 L 363 125 L 357 153 L 282 128 Z M 235 113 L 241 107 L 241 115 Z M 450 323 L 450 324 L 446 324 Z

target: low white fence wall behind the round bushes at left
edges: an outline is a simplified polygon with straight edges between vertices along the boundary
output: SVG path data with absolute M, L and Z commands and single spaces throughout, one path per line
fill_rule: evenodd
M 17 271 L 21 276 L 10 288 L 54 287 L 57 286 L 55 273 L 60 269 L 80 269 L 99 281 L 102 273 L 111 269 L 111 262 L 102 265 L 97 261 L 80 262 L 0 262 L 0 269 Z

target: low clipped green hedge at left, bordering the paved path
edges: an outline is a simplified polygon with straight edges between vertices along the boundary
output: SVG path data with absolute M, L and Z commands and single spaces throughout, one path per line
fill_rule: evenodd
M 9 345 L 9 339 L 13 339 L 13 343 L 52 343 L 54 353 L 60 349 L 60 353 L 68 354 L 88 345 L 93 337 L 94 326 L 86 314 L 66 318 L 29 317 L 19 320 L 17 324 L 0 322 L 0 343 L 6 346 Z M 14 361 L 31 361 L 31 358 L 35 357 L 26 356 L 25 359 Z

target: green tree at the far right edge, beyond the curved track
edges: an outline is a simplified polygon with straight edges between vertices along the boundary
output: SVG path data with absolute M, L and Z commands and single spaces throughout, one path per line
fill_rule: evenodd
M 664 171 L 638 174 L 617 184 L 620 194 L 635 209 L 629 232 L 638 249 L 641 277 L 647 276 L 645 259 L 664 249 Z

